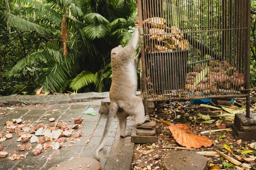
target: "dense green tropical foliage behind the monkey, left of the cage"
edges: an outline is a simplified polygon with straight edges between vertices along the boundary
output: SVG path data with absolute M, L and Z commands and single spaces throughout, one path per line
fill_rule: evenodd
M 0 95 L 109 90 L 110 50 L 130 40 L 135 1 L 0 3 Z

